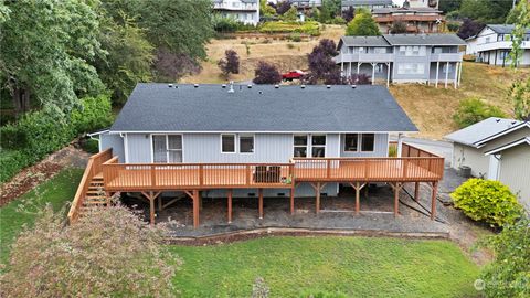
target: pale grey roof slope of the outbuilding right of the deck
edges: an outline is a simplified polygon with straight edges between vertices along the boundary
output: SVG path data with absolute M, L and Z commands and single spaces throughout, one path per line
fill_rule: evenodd
M 484 140 L 502 134 L 509 129 L 520 126 L 522 121 L 490 117 L 480 123 L 470 125 L 457 130 L 444 138 L 454 142 L 464 143 L 475 148 L 480 147 Z

